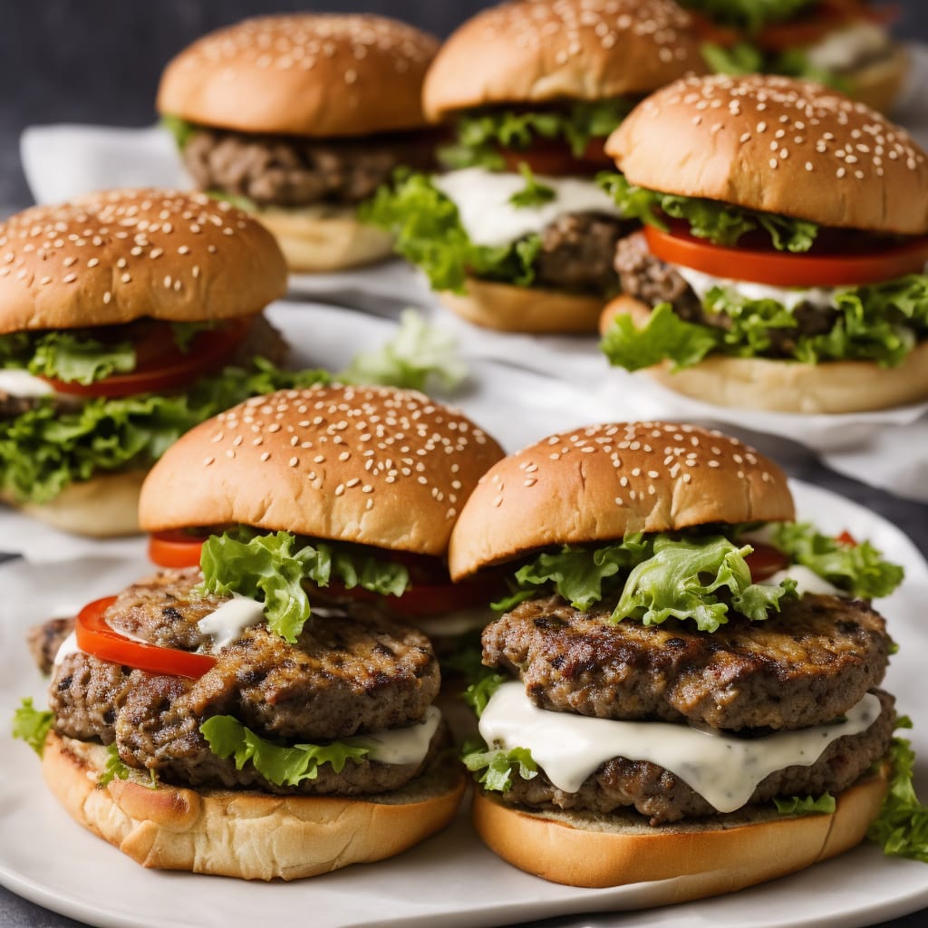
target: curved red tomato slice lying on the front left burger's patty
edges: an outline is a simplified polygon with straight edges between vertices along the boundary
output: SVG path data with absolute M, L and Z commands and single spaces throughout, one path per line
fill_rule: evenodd
M 95 599 L 77 613 L 74 631 L 81 651 L 93 654 L 101 661 L 134 667 L 148 674 L 168 674 L 191 679 L 202 677 L 216 663 L 216 659 L 209 654 L 160 648 L 146 641 L 126 638 L 116 629 L 110 628 L 104 618 L 104 613 L 115 601 L 115 596 Z

